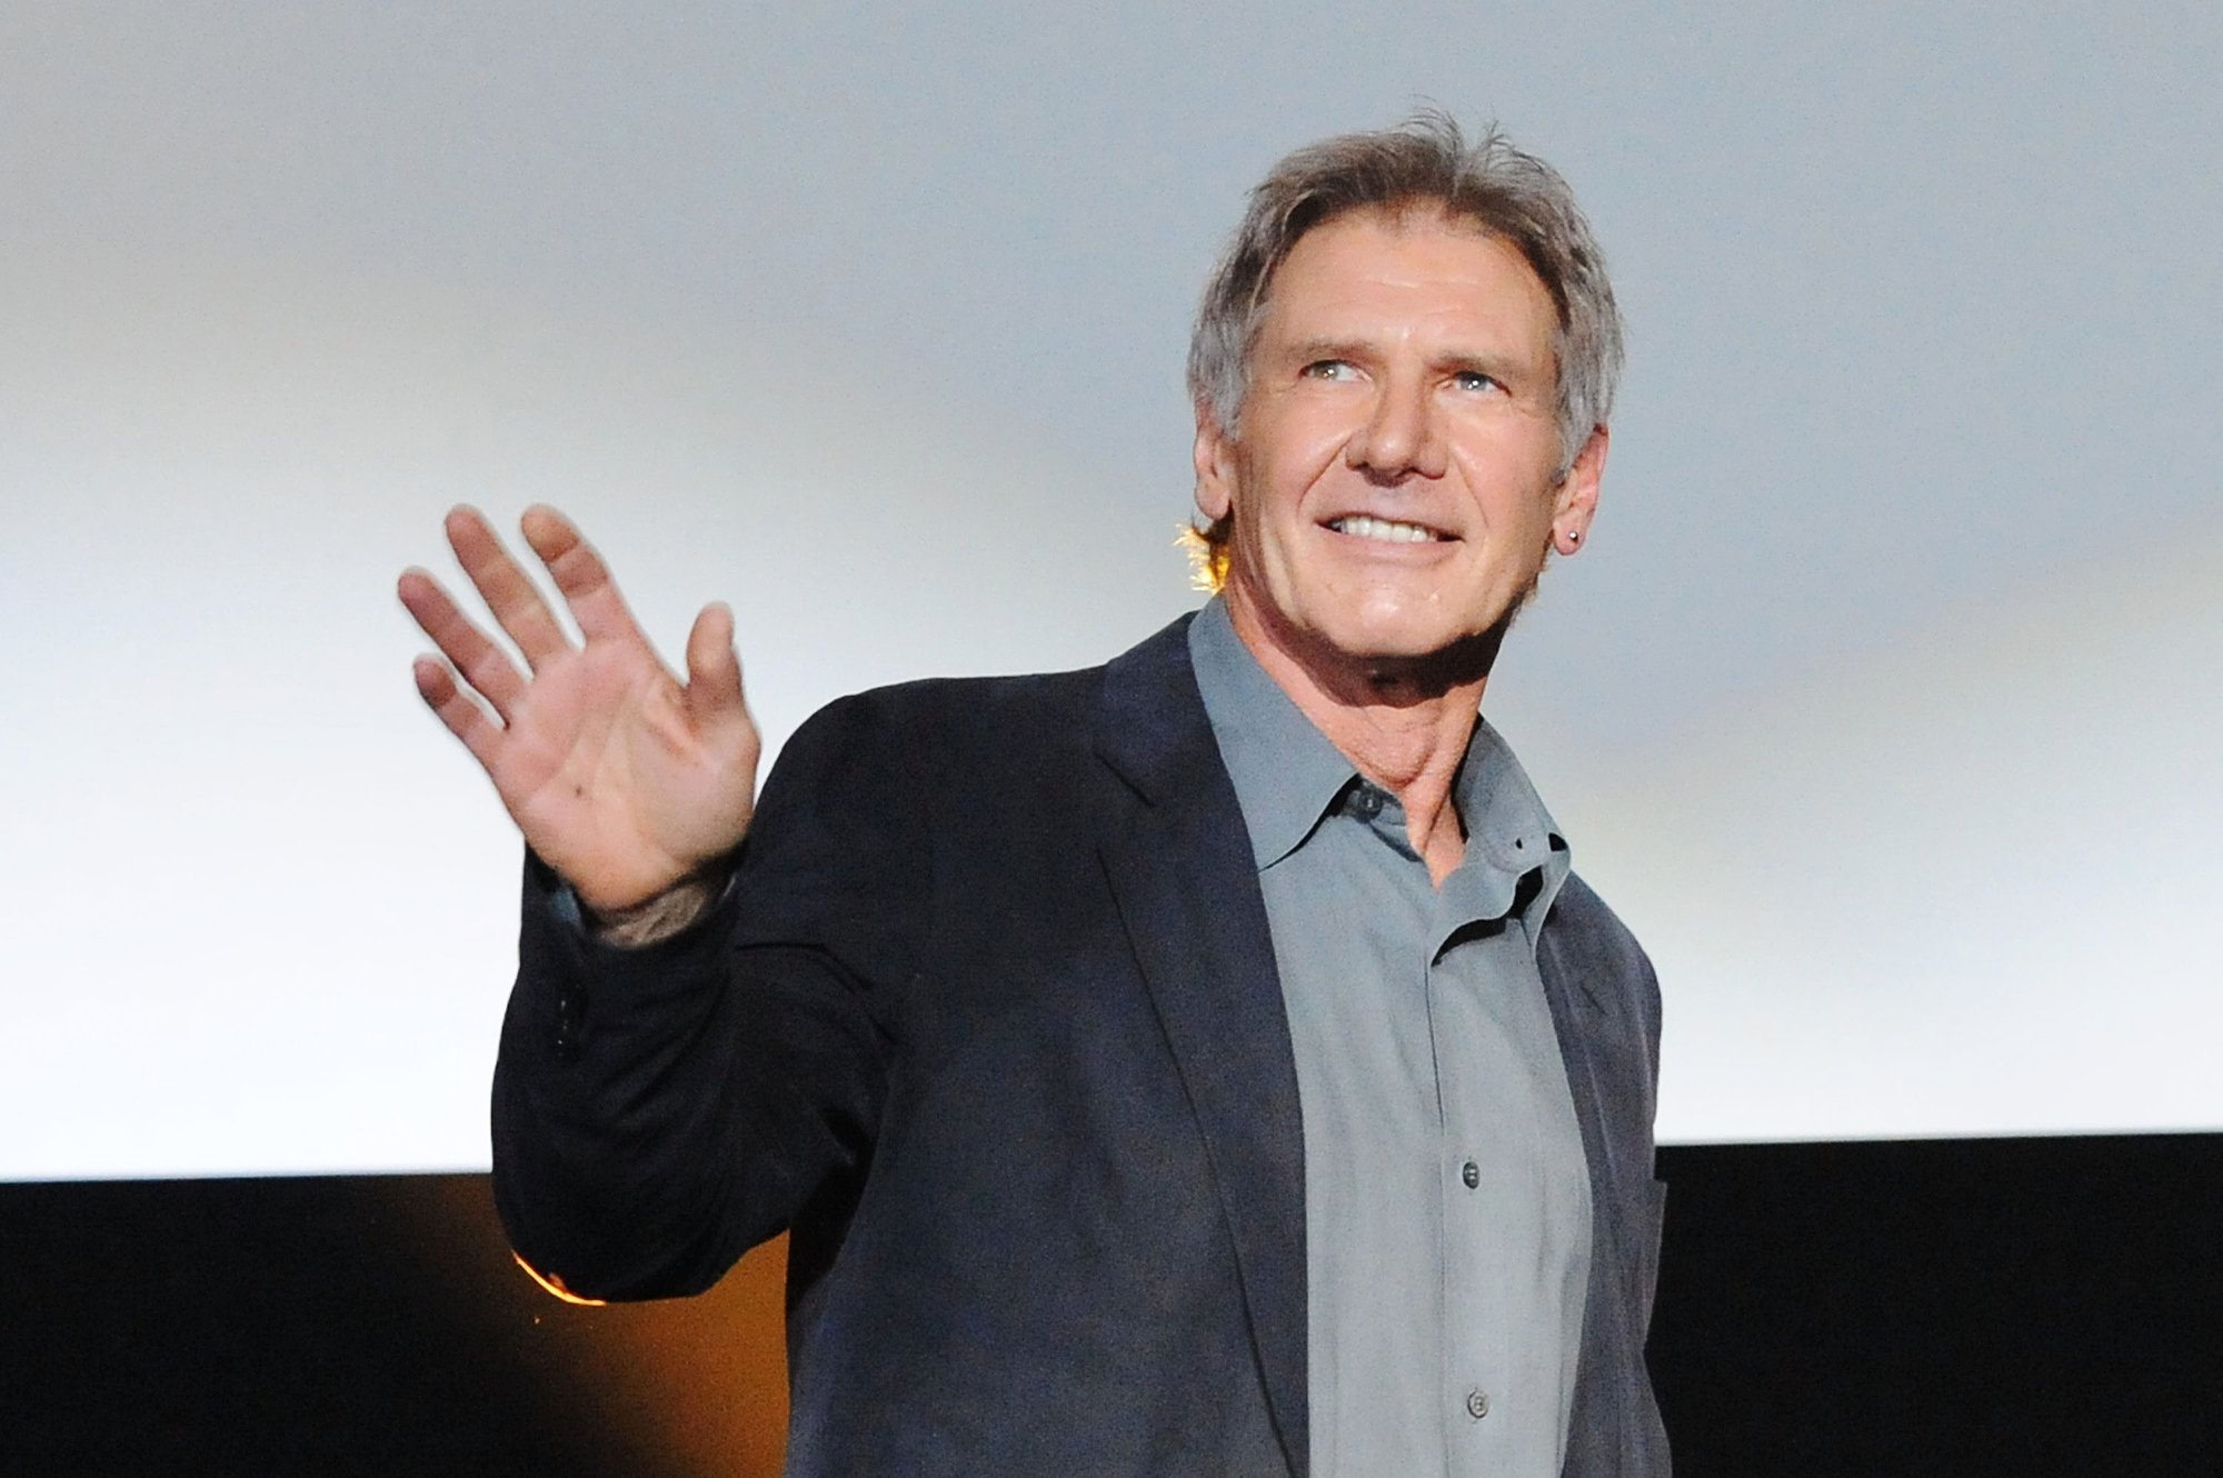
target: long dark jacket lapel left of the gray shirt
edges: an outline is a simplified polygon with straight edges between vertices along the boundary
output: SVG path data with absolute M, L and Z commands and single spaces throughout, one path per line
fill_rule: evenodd
M 1249 833 L 1189 669 L 1187 620 L 1105 669 L 1096 747 L 1127 785 L 1103 833 L 1105 873 L 1218 1180 L 1283 1454 L 1305 1478 L 1296 1060 Z

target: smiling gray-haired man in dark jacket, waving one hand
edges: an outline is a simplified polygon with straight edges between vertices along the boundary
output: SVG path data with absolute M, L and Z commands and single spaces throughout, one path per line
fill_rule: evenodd
M 1618 347 L 1538 160 L 1298 151 L 1192 344 L 1220 598 L 840 700 L 754 816 L 725 609 L 682 687 L 560 516 L 582 647 L 453 513 L 531 667 L 402 578 L 531 847 L 520 1256 L 649 1298 L 789 1231 L 796 1474 L 1665 1474 L 1656 987 L 1478 722 Z

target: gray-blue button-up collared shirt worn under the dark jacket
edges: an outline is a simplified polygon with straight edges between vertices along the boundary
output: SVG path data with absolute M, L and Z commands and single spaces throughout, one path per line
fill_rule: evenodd
M 1434 887 L 1396 796 L 1214 600 L 1189 656 L 1249 827 L 1305 1120 L 1316 1478 L 1552 1478 L 1589 1280 L 1589 1174 L 1536 973 L 1567 845 L 1476 722 Z

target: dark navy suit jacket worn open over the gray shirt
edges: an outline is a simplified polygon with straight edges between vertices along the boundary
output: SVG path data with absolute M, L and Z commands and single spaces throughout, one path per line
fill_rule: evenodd
M 651 1298 L 791 1231 L 791 1474 L 1307 1471 L 1296 1069 L 1185 625 L 827 707 L 665 945 L 529 867 L 509 1236 Z M 1658 993 L 1574 878 L 1538 960 L 1596 1207 L 1567 1474 L 1649 1478 Z

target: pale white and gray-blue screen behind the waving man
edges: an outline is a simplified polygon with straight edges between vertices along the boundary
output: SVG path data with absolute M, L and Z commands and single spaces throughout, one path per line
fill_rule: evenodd
M 9 7 L 0 1178 L 482 1167 L 440 511 L 567 507 L 667 649 L 731 600 L 774 742 L 1098 660 L 1194 600 L 1240 189 L 1416 96 L 1632 316 L 1487 707 L 1661 967 L 1663 1136 L 2223 1127 L 2219 64 L 2210 7 Z

